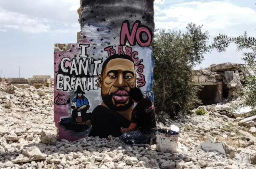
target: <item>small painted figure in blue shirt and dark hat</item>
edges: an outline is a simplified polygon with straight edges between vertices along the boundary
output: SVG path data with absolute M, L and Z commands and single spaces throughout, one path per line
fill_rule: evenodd
M 75 94 L 76 97 L 71 101 L 73 105 L 71 116 L 76 123 L 86 123 L 86 125 L 90 125 L 87 124 L 86 121 L 86 113 L 90 105 L 88 99 L 84 96 L 85 92 L 78 86 Z M 88 123 L 90 123 L 90 121 L 88 121 Z

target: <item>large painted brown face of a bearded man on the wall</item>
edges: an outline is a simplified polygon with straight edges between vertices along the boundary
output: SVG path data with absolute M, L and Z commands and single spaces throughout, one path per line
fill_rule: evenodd
M 108 62 L 98 86 L 101 87 L 102 101 L 108 108 L 125 111 L 133 105 L 130 88 L 136 87 L 134 63 L 127 59 L 113 59 Z

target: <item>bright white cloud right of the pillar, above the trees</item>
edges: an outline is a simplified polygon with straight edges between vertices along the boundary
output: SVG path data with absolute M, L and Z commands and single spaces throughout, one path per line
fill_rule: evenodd
M 230 27 L 238 24 L 244 30 L 247 29 L 248 24 L 256 25 L 256 12 L 252 8 L 240 7 L 224 1 L 186 2 L 161 10 L 156 8 L 156 12 L 155 25 L 164 29 L 183 29 L 188 23 L 194 22 L 197 25 L 204 25 L 204 29 L 216 35 L 220 30 L 228 31 Z M 233 34 L 237 33 L 232 31 Z M 237 31 L 240 34 L 241 30 L 237 29 Z

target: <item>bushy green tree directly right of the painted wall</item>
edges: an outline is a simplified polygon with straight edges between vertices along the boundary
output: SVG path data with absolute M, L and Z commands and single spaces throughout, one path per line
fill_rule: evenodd
M 188 24 L 187 31 L 156 30 L 154 35 L 154 105 L 159 111 L 175 115 L 193 108 L 200 100 L 200 87 L 192 82 L 192 68 L 204 60 L 208 32 Z

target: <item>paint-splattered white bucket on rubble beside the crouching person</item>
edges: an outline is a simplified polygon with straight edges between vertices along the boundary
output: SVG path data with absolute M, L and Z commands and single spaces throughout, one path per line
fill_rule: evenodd
M 178 148 L 178 133 L 170 134 L 170 130 L 158 129 L 156 135 L 156 149 L 164 153 L 175 153 Z

